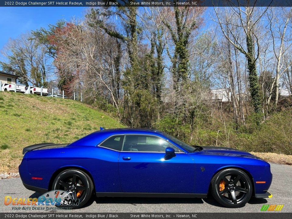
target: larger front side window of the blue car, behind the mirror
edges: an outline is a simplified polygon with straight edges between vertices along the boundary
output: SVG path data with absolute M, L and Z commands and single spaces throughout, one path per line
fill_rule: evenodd
M 126 135 L 123 151 L 164 152 L 167 147 L 174 148 L 176 152 L 181 152 L 172 144 L 155 136 Z

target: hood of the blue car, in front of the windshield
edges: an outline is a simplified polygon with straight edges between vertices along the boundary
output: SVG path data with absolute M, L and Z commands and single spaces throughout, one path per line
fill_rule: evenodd
M 250 154 L 249 152 L 240 151 L 235 148 L 224 148 L 224 147 L 215 147 L 215 146 L 200 146 L 200 147 L 203 148 L 201 150 L 201 153 L 205 153 L 209 155 L 258 158 L 255 155 Z

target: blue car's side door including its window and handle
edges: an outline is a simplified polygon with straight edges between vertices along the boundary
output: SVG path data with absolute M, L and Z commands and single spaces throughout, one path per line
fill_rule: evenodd
M 165 149 L 175 149 L 166 155 Z M 193 193 L 195 163 L 185 152 L 152 135 L 125 135 L 119 156 L 124 193 Z

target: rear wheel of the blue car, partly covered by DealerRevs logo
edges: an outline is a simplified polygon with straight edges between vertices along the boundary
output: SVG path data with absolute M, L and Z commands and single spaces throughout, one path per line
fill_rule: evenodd
M 73 179 L 75 179 L 74 188 L 71 187 L 73 184 Z M 71 188 L 69 188 L 69 186 Z M 89 199 L 92 196 L 93 187 L 94 187 L 93 182 L 91 178 L 88 176 L 88 174 L 78 169 L 68 169 L 62 171 L 54 179 L 52 190 L 61 189 L 65 191 L 67 190 L 70 191 L 73 196 L 73 199 L 79 199 L 79 203 L 78 206 L 67 205 L 66 207 L 72 207 L 72 209 L 77 209 L 82 207 L 89 201 Z M 78 190 L 78 188 L 80 188 L 80 190 Z M 78 192 L 81 192 L 80 196 L 78 196 Z

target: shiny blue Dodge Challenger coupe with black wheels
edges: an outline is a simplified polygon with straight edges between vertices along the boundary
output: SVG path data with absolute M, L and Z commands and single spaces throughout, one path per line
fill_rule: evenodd
M 83 206 L 92 196 L 206 198 L 242 207 L 251 196 L 268 198 L 269 163 L 245 151 L 186 144 L 158 130 L 108 129 L 71 144 L 23 149 L 23 185 L 62 190 Z M 75 206 L 75 208 L 77 208 Z

